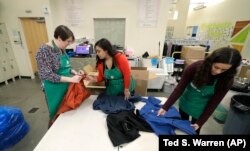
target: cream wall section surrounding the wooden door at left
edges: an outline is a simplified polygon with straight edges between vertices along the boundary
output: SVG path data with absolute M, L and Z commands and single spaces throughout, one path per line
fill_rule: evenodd
M 49 15 L 44 15 L 42 12 L 42 7 L 45 5 L 49 6 L 49 0 L 0 0 L 0 22 L 4 22 L 7 26 L 9 38 L 21 76 L 29 76 L 34 78 L 19 17 L 45 17 L 48 34 L 50 34 L 52 33 L 51 18 Z M 26 9 L 31 10 L 32 13 L 25 13 Z M 13 31 L 21 32 L 24 43 L 23 46 L 14 44 Z

